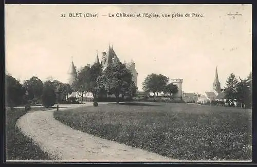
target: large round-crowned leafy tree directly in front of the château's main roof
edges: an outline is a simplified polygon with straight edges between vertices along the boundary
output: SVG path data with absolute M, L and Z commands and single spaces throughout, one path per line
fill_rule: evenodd
M 120 94 L 125 95 L 130 92 L 133 85 L 132 74 L 121 62 L 109 64 L 104 70 L 100 82 L 108 94 L 114 94 L 117 103 L 119 102 Z

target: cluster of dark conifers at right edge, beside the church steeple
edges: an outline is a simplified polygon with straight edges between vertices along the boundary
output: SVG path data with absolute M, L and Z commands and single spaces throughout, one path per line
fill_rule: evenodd
M 232 106 L 237 102 L 242 107 L 252 107 L 252 73 L 244 79 L 238 79 L 231 73 L 226 81 L 225 99 Z

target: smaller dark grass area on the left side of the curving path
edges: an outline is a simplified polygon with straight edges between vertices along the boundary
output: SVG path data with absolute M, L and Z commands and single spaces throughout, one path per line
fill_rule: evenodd
M 50 110 L 52 108 L 31 108 L 31 110 Z M 25 115 L 24 108 L 6 109 L 6 160 L 50 160 L 47 153 L 33 143 L 15 126 L 17 119 Z

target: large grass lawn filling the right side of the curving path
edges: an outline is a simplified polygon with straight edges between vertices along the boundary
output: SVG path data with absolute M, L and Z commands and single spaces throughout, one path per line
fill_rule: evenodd
M 71 128 L 178 160 L 251 160 L 249 109 L 120 103 L 54 112 Z

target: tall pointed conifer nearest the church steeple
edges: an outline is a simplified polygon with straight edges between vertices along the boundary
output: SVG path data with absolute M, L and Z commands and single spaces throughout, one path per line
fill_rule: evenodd
M 237 96 L 237 83 L 237 78 L 233 73 L 231 73 L 226 82 L 227 87 L 225 87 L 225 98 L 228 100 L 229 103 L 232 103 L 232 105 Z

